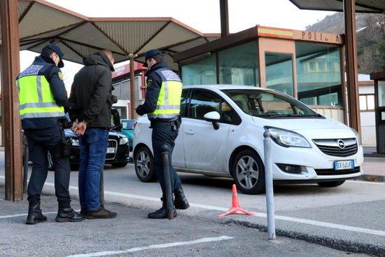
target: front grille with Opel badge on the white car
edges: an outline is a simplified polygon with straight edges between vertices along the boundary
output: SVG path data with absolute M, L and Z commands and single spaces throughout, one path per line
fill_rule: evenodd
M 356 139 L 316 139 L 314 144 L 326 155 L 347 157 L 358 151 Z

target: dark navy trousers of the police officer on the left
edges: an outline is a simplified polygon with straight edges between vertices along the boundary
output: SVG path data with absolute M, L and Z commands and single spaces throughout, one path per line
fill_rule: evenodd
M 27 193 L 29 202 L 39 202 L 41 190 L 48 174 L 48 152 L 50 152 L 55 168 L 55 194 L 59 208 L 70 205 L 69 197 L 69 160 L 61 156 L 62 137 L 64 131 L 55 125 L 44 130 L 25 130 L 28 141 L 29 159 L 32 162 L 32 173 L 29 178 Z

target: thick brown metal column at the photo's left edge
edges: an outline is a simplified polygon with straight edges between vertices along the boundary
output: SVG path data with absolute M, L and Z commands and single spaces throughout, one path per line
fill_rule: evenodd
M 6 200 L 20 201 L 22 185 L 22 134 L 15 78 L 20 71 L 18 1 L 1 0 L 1 110 L 5 148 Z

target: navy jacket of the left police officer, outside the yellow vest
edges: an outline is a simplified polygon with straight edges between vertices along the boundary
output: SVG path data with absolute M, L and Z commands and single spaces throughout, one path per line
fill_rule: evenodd
M 48 83 L 50 83 L 50 90 L 57 105 L 63 106 L 65 111 L 69 111 L 69 109 L 76 108 L 76 105 L 69 102 L 69 99 L 67 97 L 62 71 L 55 65 L 55 62 L 53 62 L 50 57 L 35 57 L 35 60 L 31 65 L 40 67 L 36 75 L 44 75 L 45 79 L 47 79 Z M 29 67 L 25 69 L 25 71 L 22 71 L 22 73 L 18 75 L 18 78 L 22 76 L 29 76 L 30 74 L 28 71 Z M 54 125 L 57 125 L 58 119 L 59 118 L 25 118 L 22 120 L 22 129 L 47 129 Z

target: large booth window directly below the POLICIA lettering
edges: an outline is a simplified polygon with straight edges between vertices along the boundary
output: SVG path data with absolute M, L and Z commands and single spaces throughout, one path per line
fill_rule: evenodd
M 298 99 L 316 106 L 342 106 L 339 47 L 295 42 Z

